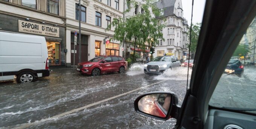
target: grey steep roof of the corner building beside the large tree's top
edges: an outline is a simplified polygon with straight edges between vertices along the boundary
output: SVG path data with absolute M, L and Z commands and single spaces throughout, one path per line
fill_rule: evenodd
M 174 4 L 176 0 L 159 0 L 156 3 L 158 9 L 164 9 L 163 16 L 174 14 Z

